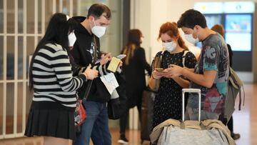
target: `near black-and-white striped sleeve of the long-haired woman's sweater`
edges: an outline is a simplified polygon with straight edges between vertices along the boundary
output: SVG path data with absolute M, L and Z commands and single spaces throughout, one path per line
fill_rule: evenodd
M 79 74 L 79 76 L 72 76 L 71 64 L 66 51 L 58 50 L 54 53 L 51 65 L 56 73 L 56 78 L 61 86 L 61 89 L 66 92 L 76 91 L 79 89 L 84 81 L 86 81 L 86 76 L 84 74 Z

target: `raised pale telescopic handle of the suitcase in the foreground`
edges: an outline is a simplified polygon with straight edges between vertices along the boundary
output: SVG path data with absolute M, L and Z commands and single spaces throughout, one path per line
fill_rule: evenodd
M 199 98 L 198 121 L 201 120 L 201 89 L 182 89 L 182 121 L 185 121 L 185 93 L 197 93 Z

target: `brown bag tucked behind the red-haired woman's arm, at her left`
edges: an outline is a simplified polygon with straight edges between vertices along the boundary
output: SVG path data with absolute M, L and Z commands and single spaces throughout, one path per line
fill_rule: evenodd
M 152 72 L 154 71 L 155 68 L 160 68 L 161 67 L 161 59 L 162 59 L 163 53 L 164 53 L 164 50 L 161 51 L 161 54 L 157 54 L 153 58 L 153 62 L 152 62 L 152 65 L 151 65 Z M 160 83 L 161 83 L 161 79 L 156 79 L 156 85 L 153 88 L 153 91 L 158 91 L 158 89 L 160 87 Z

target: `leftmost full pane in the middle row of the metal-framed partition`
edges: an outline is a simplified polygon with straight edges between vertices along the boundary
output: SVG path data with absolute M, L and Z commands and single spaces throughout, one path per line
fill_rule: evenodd
M 14 79 L 14 36 L 7 36 L 7 79 Z

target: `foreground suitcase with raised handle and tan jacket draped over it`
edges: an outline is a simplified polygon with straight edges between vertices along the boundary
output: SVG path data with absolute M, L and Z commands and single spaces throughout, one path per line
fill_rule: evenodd
M 182 89 L 182 121 L 168 119 L 156 126 L 150 135 L 152 144 L 235 145 L 235 141 L 230 136 L 230 131 L 221 121 L 215 119 L 200 121 L 201 111 L 198 114 L 198 121 L 184 121 L 184 94 L 186 92 L 198 94 L 198 107 L 201 109 L 201 90 Z

